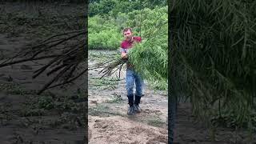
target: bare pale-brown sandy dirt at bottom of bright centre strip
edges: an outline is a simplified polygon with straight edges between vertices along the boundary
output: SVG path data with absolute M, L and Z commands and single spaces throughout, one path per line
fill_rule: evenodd
M 121 116 L 89 119 L 90 143 L 167 143 L 165 128 L 134 122 Z

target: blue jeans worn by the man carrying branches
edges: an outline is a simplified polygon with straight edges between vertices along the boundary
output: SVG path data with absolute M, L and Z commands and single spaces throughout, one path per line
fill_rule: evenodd
M 134 70 L 127 68 L 126 69 L 126 90 L 128 96 L 134 95 L 134 82 L 136 85 L 135 95 L 142 96 L 142 86 L 144 84 L 141 76 L 136 73 Z

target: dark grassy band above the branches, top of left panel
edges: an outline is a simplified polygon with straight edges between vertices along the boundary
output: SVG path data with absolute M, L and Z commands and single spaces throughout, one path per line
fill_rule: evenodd
M 53 10 L 55 8 L 49 5 L 41 4 L 41 6 L 32 6 L 34 7 L 33 10 L 30 4 L 24 6 L 24 3 L 20 2 L 18 5 L 15 7 L 15 10 L 6 8 L 12 7 L 14 4 L 12 6 L 8 4 L 6 6 L 1 5 L 0 21 L 2 20 L 5 23 L 0 25 L 0 31 L 2 33 L 8 33 L 10 37 L 26 34 L 28 38 L 41 39 L 52 34 L 62 33 L 63 29 L 66 28 L 70 29 L 74 27 L 78 29 L 84 25 L 82 6 L 76 7 L 76 10 L 72 12 L 74 14 L 70 15 L 70 13 L 65 14 L 65 12 L 63 14 L 65 10 Z

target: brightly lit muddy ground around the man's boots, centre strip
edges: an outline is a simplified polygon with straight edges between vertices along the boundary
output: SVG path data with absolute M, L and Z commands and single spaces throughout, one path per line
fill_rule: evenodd
M 90 50 L 89 68 L 114 58 L 117 51 Z M 167 143 L 167 91 L 151 90 L 145 83 L 142 112 L 128 116 L 125 67 L 101 79 L 102 69 L 89 71 L 89 143 Z

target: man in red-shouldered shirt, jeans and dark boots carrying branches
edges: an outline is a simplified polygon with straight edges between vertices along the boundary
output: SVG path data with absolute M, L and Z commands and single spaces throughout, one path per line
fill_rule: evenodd
M 121 57 L 128 58 L 128 51 L 133 47 L 135 42 L 142 42 L 142 38 L 134 37 L 131 28 L 126 28 L 122 31 L 125 40 L 121 43 Z M 136 92 L 134 94 L 134 82 L 136 85 Z M 126 90 L 128 97 L 128 104 L 130 105 L 127 114 L 140 113 L 141 109 L 139 103 L 142 97 L 143 80 L 138 73 L 136 73 L 132 66 L 127 62 L 126 68 Z M 135 97 L 135 99 L 134 99 Z

